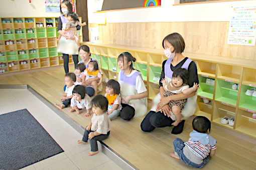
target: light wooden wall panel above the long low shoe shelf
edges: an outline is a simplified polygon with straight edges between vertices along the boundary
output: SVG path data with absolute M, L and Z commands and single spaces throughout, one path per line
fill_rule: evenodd
M 129 22 L 89 24 L 99 27 L 99 42 L 162 48 L 163 38 L 179 32 L 186 52 L 256 60 L 255 46 L 227 44 L 228 21 L 219 22 Z

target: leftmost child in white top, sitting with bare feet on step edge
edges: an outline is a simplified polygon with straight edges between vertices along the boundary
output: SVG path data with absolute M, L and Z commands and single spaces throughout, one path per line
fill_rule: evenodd
M 54 105 L 60 110 L 64 107 L 68 107 L 71 103 L 71 98 L 73 97 L 73 89 L 75 87 L 74 82 L 76 81 L 76 75 L 73 72 L 68 72 L 65 74 L 65 84 L 67 85 L 64 94 L 61 97 L 62 104 L 55 103 Z

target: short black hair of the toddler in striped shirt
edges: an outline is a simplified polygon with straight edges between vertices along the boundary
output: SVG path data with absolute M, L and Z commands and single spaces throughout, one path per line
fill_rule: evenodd
M 211 121 L 205 116 L 196 116 L 192 121 L 192 126 L 199 133 L 207 133 L 211 130 Z

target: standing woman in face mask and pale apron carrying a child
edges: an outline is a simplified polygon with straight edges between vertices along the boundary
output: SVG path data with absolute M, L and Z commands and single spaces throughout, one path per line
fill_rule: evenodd
M 72 54 L 75 66 L 78 63 L 78 47 L 79 46 L 77 46 L 74 38 L 67 37 L 62 31 L 62 29 L 65 29 L 66 23 L 68 22 L 67 13 L 72 12 L 72 10 L 73 10 L 73 7 L 69 0 L 63 0 L 60 3 L 60 12 L 62 15 L 58 19 L 57 30 L 58 30 L 58 33 L 61 34 L 62 36 L 60 39 L 57 39 L 58 41 L 57 51 L 62 53 L 63 55 L 63 64 L 64 64 L 65 73 L 69 72 L 69 69 L 68 69 L 69 54 Z M 78 25 L 74 29 L 79 30 L 80 28 L 81 26 Z

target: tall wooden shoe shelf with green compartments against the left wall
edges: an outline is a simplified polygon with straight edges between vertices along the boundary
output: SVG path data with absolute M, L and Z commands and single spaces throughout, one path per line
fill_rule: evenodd
M 6 22 L 3 23 L 3 20 Z M 40 27 L 40 23 L 43 24 L 43 27 Z M 0 18 L 0 53 L 3 53 L 0 56 L 0 65 L 2 62 L 6 65 L 0 66 L 0 70 L 5 70 L 0 74 L 63 65 L 63 58 L 60 59 L 62 54 L 57 52 L 56 38 L 59 35 L 57 25 L 58 17 Z M 81 37 L 82 29 L 79 31 L 79 39 L 82 41 Z M 10 40 L 14 44 L 6 44 Z M 30 40 L 35 40 L 35 42 L 29 43 Z M 26 53 L 19 54 L 20 50 Z M 31 50 L 36 52 L 31 52 Z M 115 52 L 115 48 L 112 51 Z M 20 64 L 20 61 L 23 60 L 27 63 Z M 36 62 L 34 62 L 35 60 Z M 9 62 L 12 61 L 17 61 L 17 65 L 9 67 Z M 72 55 L 69 56 L 69 63 L 74 63 Z

